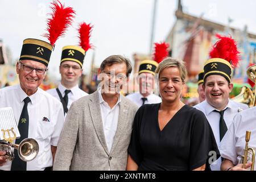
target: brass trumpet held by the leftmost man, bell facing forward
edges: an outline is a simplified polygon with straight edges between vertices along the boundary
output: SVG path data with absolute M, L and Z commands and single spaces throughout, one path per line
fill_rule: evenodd
M 39 152 L 39 145 L 35 139 L 26 138 L 20 144 L 13 144 L 6 141 L 0 142 L 0 151 L 5 151 L 5 157 L 9 160 L 14 159 L 14 150 L 18 150 L 19 158 L 23 161 L 33 160 Z

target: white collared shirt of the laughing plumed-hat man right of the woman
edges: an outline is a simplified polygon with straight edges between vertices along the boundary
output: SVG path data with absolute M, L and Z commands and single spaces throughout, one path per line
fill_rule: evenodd
M 196 109 L 203 111 L 203 113 L 207 117 L 210 127 L 212 127 L 212 131 L 213 131 L 216 143 L 218 147 L 220 147 L 220 113 L 215 112 L 214 110 L 217 110 L 217 109 L 211 106 L 207 102 L 207 100 L 201 102 L 200 104 L 195 105 L 194 107 L 196 107 Z M 228 105 L 226 105 L 226 107 L 224 108 L 226 109 L 224 112 L 224 121 L 226 123 L 226 127 L 229 128 L 229 126 L 232 124 L 234 115 L 238 113 L 238 109 L 247 109 L 247 108 L 248 106 L 245 104 L 241 104 L 241 103 L 229 100 Z M 210 168 L 213 171 L 220 171 L 220 166 L 221 166 L 221 158 L 218 158 L 218 160 L 216 160 L 212 165 L 210 165 Z

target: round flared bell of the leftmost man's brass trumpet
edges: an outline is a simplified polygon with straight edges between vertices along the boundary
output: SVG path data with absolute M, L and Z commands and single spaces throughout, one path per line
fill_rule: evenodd
M 26 138 L 20 142 L 18 147 L 19 158 L 23 161 L 35 159 L 39 152 L 39 144 L 35 139 Z

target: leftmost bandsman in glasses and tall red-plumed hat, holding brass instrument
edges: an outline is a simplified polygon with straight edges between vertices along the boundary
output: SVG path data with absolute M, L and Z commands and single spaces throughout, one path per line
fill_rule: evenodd
M 19 134 L 9 125 L 1 128 L 1 132 L 5 133 L 7 144 L 14 142 L 20 145 L 18 150 L 12 148 L 14 151 L 0 152 L 0 170 L 44 171 L 51 170 L 53 166 L 64 124 L 63 106 L 39 85 L 46 76 L 55 42 L 71 25 L 75 11 L 72 7 L 64 7 L 59 1 L 51 3 L 51 10 L 51 18 L 47 21 L 48 32 L 44 35 L 49 43 L 25 39 L 16 64 L 20 84 L 0 90 L 0 107 L 12 108 Z

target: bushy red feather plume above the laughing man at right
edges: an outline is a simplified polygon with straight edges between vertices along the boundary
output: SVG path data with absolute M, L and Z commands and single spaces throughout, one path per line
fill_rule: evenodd
M 232 64 L 233 67 L 237 67 L 241 57 L 240 52 L 237 49 L 237 43 L 234 39 L 226 36 L 216 34 L 216 37 L 220 40 L 216 42 L 210 51 L 210 58 L 221 58 Z

